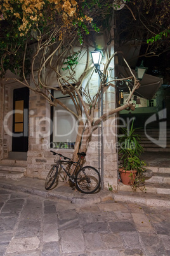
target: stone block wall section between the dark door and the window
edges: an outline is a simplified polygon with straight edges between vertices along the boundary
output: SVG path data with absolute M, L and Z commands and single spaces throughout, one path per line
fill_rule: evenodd
M 50 135 L 48 111 L 49 106 L 44 97 L 30 90 L 27 176 L 32 178 L 45 178 L 50 167 L 45 155 L 49 144 L 48 134 Z

